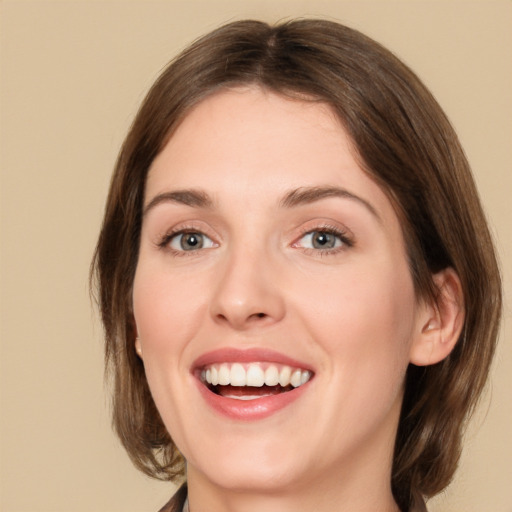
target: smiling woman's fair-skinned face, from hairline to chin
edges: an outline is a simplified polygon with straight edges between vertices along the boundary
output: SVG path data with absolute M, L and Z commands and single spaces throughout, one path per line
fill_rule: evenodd
M 389 472 L 422 306 L 393 207 L 330 109 L 209 97 L 153 162 L 144 205 L 138 343 L 189 479 Z

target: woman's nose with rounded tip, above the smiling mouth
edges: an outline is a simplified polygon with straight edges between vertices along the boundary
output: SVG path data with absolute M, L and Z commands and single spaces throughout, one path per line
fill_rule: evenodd
M 211 302 L 216 323 L 236 330 L 275 324 L 285 316 L 279 269 L 263 251 L 237 251 L 224 261 Z

